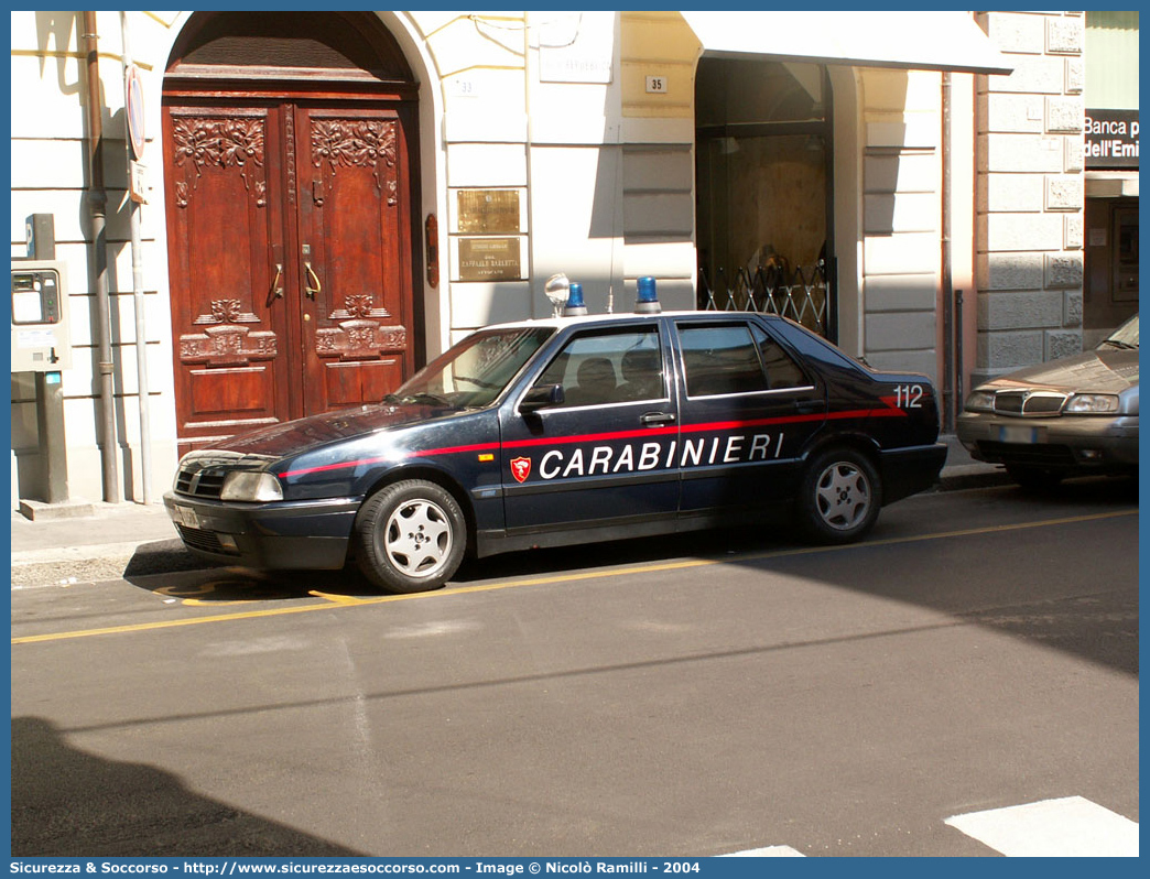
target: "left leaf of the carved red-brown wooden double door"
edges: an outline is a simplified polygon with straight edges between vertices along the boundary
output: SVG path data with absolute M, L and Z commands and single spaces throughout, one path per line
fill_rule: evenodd
M 275 423 L 290 408 L 288 321 L 270 307 L 283 286 L 279 165 L 268 150 L 279 137 L 274 107 L 164 113 L 182 441 Z

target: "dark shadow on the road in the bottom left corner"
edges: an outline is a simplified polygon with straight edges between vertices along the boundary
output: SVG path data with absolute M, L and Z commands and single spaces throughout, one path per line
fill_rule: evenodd
M 18 717 L 12 721 L 12 854 L 347 857 L 361 853 L 200 796 L 152 766 L 76 750 L 47 720 Z

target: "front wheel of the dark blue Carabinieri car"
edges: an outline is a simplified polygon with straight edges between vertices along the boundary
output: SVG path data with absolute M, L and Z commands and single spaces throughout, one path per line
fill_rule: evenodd
M 440 588 L 467 550 L 467 521 L 451 492 L 408 480 L 368 497 L 355 517 L 355 560 L 363 575 L 389 593 Z

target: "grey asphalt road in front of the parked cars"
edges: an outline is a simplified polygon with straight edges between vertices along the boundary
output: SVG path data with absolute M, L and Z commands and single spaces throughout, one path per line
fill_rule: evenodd
M 415 597 L 146 565 L 18 590 L 13 854 L 963 856 L 997 854 L 967 812 L 1137 821 L 1137 535 L 1135 487 L 1087 481 Z

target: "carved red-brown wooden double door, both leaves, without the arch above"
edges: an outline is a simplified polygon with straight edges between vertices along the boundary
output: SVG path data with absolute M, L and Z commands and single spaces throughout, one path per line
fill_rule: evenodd
M 181 453 L 412 374 L 414 123 L 404 101 L 166 99 Z

